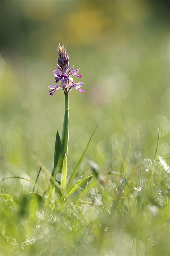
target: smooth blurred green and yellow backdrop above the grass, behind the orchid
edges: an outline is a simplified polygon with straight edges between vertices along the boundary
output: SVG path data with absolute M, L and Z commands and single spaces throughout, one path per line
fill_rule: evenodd
M 169 154 L 169 1 L 1 1 L 2 174 L 36 177 L 36 155 L 51 170 L 64 117 L 55 83 L 58 43 L 80 68 L 84 94 L 70 97 L 69 172 L 98 125 L 86 157 L 116 168 L 126 154 Z M 127 146 L 127 147 L 126 147 Z M 118 170 L 117 170 L 118 171 Z M 13 181 L 8 181 L 10 184 Z

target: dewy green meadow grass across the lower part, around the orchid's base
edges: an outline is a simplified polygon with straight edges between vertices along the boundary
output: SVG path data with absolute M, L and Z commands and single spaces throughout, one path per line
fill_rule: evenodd
M 50 175 L 37 159 L 37 182 L 2 181 L 1 255 L 168 255 L 167 159 L 157 155 L 159 144 L 151 159 L 143 159 L 140 148 L 132 157 L 126 142 L 126 156 L 118 140 L 112 144 L 116 168 L 112 159 L 103 170 L 85 159 L 77 178 L 93 178 L 68 203 L 43 190 Z

